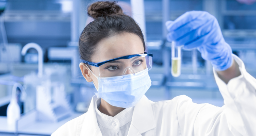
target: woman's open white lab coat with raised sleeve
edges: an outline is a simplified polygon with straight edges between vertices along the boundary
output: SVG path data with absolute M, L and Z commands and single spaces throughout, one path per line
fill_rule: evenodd
M 226 85 L 214 77 L 225 105 L 196 104 L 185 96 L 152 102 L 143 96 L 134 107 L 128 136 L 256 136 L 256 79 L 243 62 L 239 77 Z M 61 126 L 52 136 L 102 136 L 93 97 L 88 112 Z

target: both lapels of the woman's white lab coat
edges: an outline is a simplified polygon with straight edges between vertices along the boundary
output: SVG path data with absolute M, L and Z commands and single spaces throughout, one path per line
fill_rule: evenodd
M 95 113 L 95 101 L 97 96 L 93 96 L 87 115 L 84 118 L 80 136 L 102 136 Z M 141 136 L 149 130 L 156 128 L 155 117 L 150 101 L 144 95 L 141 100 L 134 106 L 131 120 L 131 126 L 128 136 Z M 79 131 L 79 130 L 78 130 Z

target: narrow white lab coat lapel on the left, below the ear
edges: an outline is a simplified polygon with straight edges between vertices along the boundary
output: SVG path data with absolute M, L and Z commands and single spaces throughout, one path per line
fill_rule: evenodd
M 95 95 L 93 96 L 93 99 L 91 99 L 91 103 L 88 108 L 87 115 L 84 119 L 80 136 L 102 136 L 95 113 L 94 103 L 96 100 L 97 96 Z

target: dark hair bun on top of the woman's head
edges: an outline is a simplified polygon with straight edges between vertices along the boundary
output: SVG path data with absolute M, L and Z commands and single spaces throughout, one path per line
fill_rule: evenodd
M 98 1 L 91 4 L 87 11 L 88 15 L 92 18 L 109 16 L 112 14 L 122 15 L 122 8 L 116 4 L 117 1 Z

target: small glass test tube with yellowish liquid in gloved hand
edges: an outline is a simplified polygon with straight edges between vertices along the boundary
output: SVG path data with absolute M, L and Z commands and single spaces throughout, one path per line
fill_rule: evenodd
M 181 75 L 181 46 L 176 46 L 176 42 L 172 41 L 172 68 L 173 77 Z

